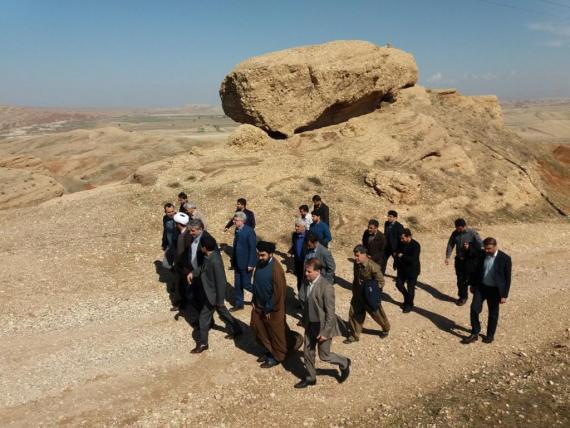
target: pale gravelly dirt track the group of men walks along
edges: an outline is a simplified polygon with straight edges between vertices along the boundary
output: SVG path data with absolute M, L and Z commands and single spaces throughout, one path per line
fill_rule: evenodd
M 416 311 L 403 314 L 386 301 L 389 338 L 380 339 L 367 321 L 360 343 L 335 339 L 333 349 L 353 360 L 349 380 L 337 384 L 321 364 L 317 386 L 297 391 L 299 358 L 261 370 L 249 334 L 234 346 L 214 331 L 210 351 L 190 355 L 191 329 L 172 319 L 153 263 L 160 215 L 148 207 L 159 203 L 136 187 L 117 186 L 51 201 L 33 221 L 23 210 L 0 213 L 1 426 L 374 425 L 382 409 L 398 413 L 398 406 L 491 370 L 513 353 L 537 352 L 570 328 L 570 225 L 481 231 L 511 254 L 514 278 L 496 342 L 468 347 L 459 344 L 468 306 L 449 301 L 455 286 L 453 269 L 443 265 L 447 234 L 418 234 L 424 285 Z M 129 207 L 124 216 L 109 208 L 117 206 Z M 350 281 L 350 247 L 333 253 L 338 275 Z M 350 291 L 336 287 L 337 312 L 346 318 Z M 385 291 L 401 300 L 391 280 Z M 247 324 L 249 310 L 239 317 Z

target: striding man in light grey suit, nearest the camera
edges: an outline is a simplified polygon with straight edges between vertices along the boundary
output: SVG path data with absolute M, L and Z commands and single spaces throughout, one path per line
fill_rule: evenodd
M 317 383 L 315 351 L 318 347 L 322 361 L 340 368 L 338 381 L 344 382 L 350 374 L 350 358 L 331 352 L 332 338 L 340 336 L 338 318 L 335 314 L 334 287 L 321 275 L 322 264 L 317 258 L 305 263 L 307 295 L 303 324 L 305 327 L 305 347 L 303 349 L 308 375 L 295 384 L 295 388 L 306 388 Z

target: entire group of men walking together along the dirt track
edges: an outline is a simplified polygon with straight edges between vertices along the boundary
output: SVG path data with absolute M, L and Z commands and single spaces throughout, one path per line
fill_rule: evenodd
M 243 329 L 232 312 L 244 309 L 244 290 L 252 293 L 250 327 L 265 353 L 258 358 L 260 367 L 270 368 L 282 363 L 289 352 L 304 344 L 304 360 L 307 376 L 296 388 L 305 388 L 316 382 L 315 354 L 339 367 L 339 382 L 350 373 L 350 359 L 331 351 L 332 338 L 341 335 L 343 321 L 335 311 L 336 263 L 328 246 L 333 237 L 330 230 L 329 207 L 319 195 L 313 197 L 313 210 L 308 205 L 299 207 L 299 217 L 291 234 L 288 254 L 292 258 L 297 278 L 301 315 L 299 325 L 305 328 L 304 338 L 289 329 L 286 322 L 285 296 L 287 283 L 285 270 L 275 259 L 275 244 L 257 242 L 255 215 L 247 209 L 247 201 L 238 199 L 236 211 L 226 224 L 225 231 L 235 227 L 231 263 L 234 271 L 233 306 L 224 304 L 227 280 L 223 260 L 216 240 L 205 230 L 203 216 L 196 205 L 188 202 L 184 193 L 179 195 L 180 207 L 166 204 L 163 220 L 162 247 L 165 251 L 164 266 L 173 270 L 175 281 L 172 292 L 172 310 L 184 314 L 198 328 L 199 340 L 192 353 L 208 349 L 208 331 L 217 312 L 226 323 L 233 339 Z M 483 302 L 489 306 L 489 322 L 484 341 L 493 341 L 499 314 L 499 304 L 504 303 L 510 287 L 510 258 L 497 250 L 494 238 L 481 241 L 477 232 L 467 227 L 463 219 L 457 219 L 455 230 L 449 238 L 445 263 L 456 250 L 459 306 L 467 302 L 467 289 L 471 287 L 472 334 L 463 343 L 478 340 L 479 314 Z M 348 335 L 345 344 L 358 342 L 366 315 L 382 328 L 380 337 L 387 337 L 390 323 L 381 303 L 384 275 L 390 258 L 396 270 L 396 287 L 402 293 L 404 313 L 414 308 L 415 287 L 421 273 L 420 244 L 413 239 L 410 229 L 398 221 L 398 213 L 390 210 L 384 223 L 372 219 L 362 236 L 362 242 L 354 248 L 352 298 L 348 314 Z

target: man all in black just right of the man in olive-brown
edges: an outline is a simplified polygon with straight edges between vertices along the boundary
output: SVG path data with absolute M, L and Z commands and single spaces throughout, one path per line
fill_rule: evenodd
M 400 247 L 396 253 L 396 267 L 398 276 L 396 277 L 396 287 L 404 296 L 402 311 L 408 313 L 414 307 L 414 296 L 418 276 L 421 272 L 420 251 L 421 247 L 418 241 L 412 239 L 410 229 L 404 229 L 400 236 Z M 408 287 L 406 288 L 406 283 Z

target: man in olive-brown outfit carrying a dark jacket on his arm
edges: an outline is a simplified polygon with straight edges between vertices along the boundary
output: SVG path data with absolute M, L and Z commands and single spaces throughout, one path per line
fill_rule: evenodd
M 366 248 L 362 245 L 357 245 L 354 248 L 354 281 L 352 283 L 352 300 L 350 301 L 350 312 L 348 314 L 350 335 L 343 343 L 358 342 L 367 312 L 382 327 L 380 337 L 388 336 L 390 322 L 388 317 L 386 317 L 382 304 L 380 303 L 378 309 L 373 311 L 368 306 L 364 296 L 364 283 L 371 279 L 378 282 L 380 289 L 384 287 L 384 275 L 382 275 L 380 266 L 368 258 Z

